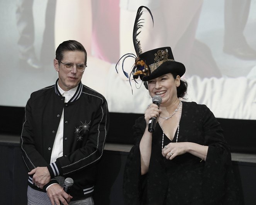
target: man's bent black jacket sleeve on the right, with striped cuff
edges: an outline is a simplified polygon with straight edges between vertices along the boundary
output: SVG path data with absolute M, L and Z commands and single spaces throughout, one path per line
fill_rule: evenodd
M 81 170 L 97 163 L 103 154 L 105 140 L 109 129 L 109 111 L 107 101 L 102 96 L 101 103 L 95 110 L 95 117 L 90 124 L 88 140 L 85 146 L 76 149 L 67 156 L 57 158 L 57 160 L 47 168 L 51 178 L 54 176 L 65 176 L 74 171 Z

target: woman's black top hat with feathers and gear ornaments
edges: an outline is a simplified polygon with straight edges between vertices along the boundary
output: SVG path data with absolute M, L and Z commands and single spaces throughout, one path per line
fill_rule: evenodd
M 147 81 L 163 76 L 164 74 L 167 74 L 167 73 L 176 74 L 181 77 L 185 73 L 186 69 L 182 63 L 174 60 L 171 47 L 162 47 L 162 48 L 153 49 L 153 50 L 149 50 L 142 53 L 141 44 L 140 44 L 140 41 L 137 39 L 137 36 L 141 32 L 141 31 L 138 32 L 138 30 L 141 29 L 142 23 L 143 23 L 141 22 L 142 20 L 141 15 L 142 15 L 143 8 L 147 9 L 147 11 L 149 12 L 153 20 L 153 15 L 149 10 L 149 8 L 144 6 L 141 6 L 138 8 L 137 15 L 134 22 L 133 35 L 132 35 L 136 55 L 132 53 L 125 54 L 119 59 L 119 61 L 123 59 L 122 70 L 124 72 L 124 75 L 129 79 L 130 84 L 131 84 L 131 77 L 132 77 L 132 80 L 134 80 L 135 82 L 137 82 L 136 79 L 140 77 L 140 79 L 143 81 L 144 86 L 147 89 Z M 154 23 L 154 20 L 153 20 L 153 23 Z M 124 60 L 127 57 L 135 58 L 135 63 L 132 68 L 132 72 L 130 74 L 125 72 L 123 67 Z M 117 64 L 119 63 L 119 61 L 117 62 Z M 115 66 L 116 71 L 117 71 L 117 64 Z

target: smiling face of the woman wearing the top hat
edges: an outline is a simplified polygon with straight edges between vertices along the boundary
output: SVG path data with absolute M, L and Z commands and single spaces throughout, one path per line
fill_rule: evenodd
M 147 84 L 151 97 L 159 95 L 162 98 L 161 104 L 171 103 L 177 99 L 177 87 L 180 86 L 180 76 L 174 79 L 173 75 L 168 73 L 147 81 Z

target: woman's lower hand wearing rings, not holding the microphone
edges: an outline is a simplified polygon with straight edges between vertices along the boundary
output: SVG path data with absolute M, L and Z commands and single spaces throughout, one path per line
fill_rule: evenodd
M 162 155 L 167 160 L 172 160 L 178 155 L 183 155 L 187 152 L 188 143 L 187 142 L 178 142 L 178 143 L 169 143 L 164 146 Z

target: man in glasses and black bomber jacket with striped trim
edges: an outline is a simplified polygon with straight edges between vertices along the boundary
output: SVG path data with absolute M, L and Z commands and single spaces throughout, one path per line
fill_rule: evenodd
M 61 43 L 56 84 L 33 92 L 27 102 L 20 144 L 29 169 L 28 204 L 93 204 L 109 113 L 105 98 L 81 83 L 86 60 L 82 44 Z M 67 177 L 74 180 L 70 195 L 61 187 Z

